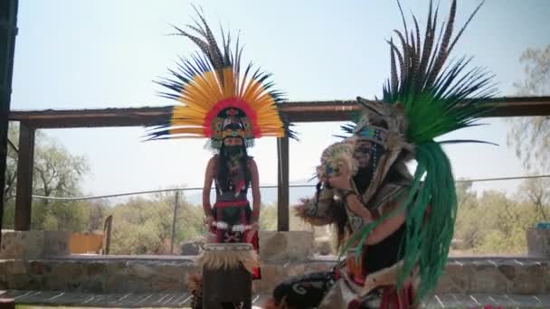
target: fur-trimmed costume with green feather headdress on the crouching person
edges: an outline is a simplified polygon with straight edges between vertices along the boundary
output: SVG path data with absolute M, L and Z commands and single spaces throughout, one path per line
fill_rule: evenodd
M 464 30 L 452 37 L 455 13 L 452 1 L 436 40 L 437 10 L 433 13 L 430 5 L 423 43 L 416 18 L 409 33 L 403 17 L 404 32 L 395 31 L 401 49 L 389 42 L 391 78 L 383 98 L 357 98 L 363 110 L 343 127 L 350 136 L 321 156 L 318 178 L 350 171 L 352 187 L 339 190 L 320 182 L 316 195 L 298 206 L 302 219 L 337 226 L 341 261 L 328 272 L 283 282 L 266 307 L 411 308 L 436 286 L 457 211 L 451 166 L 441 145 L 476 141 L 435 138 L 473 126 L 490 108 L 480 103 L 494 93 L 485 70 L 466 70 L 469 59 L 446 63 Z M 417 163 L 413 174 L 406 166 L 412 160 Z M 353 208 L 353 196 L 362 209 Z M 365 209 L 368 216 L 359 215 Z M 389 228 L 394 222 L 399 225 Z

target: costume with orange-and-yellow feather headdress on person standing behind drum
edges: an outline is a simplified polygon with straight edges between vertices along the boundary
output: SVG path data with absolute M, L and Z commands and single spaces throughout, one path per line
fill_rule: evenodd
M 150 139 L 209 138 L 210 147 L 217 152 L 211 160 L 216 201 L 207 214 L 213 217 L 209 229 L 213 242 L 232 245 L 207 245 L 199 263 L 212 268 L 244 264 L 259 278 L 258 235 L 251 229 L 258 213 L 252 213 L 247 200 L 253 162 L 246 148 L 262 136 L 294 135 L 278 110 L 281 93 L 272 89 L 270 74 L 252 70 L 251 64 L 242 70 L 239 41 L 232 50 L 231 35 L 223 33 L 220 47 L 204 16 L 199 14 L 199 18 L 188 29 L 176 30 L 200 52 L 182 58 L 177 70 L 170 70 L 173 77 L 159 82 L 169 89 L 162 95 L 180 104 L 170 117 L 151 126 L 147 135 Z M 209 194 L 210 187 L 205 191 Z M 200 286 L 196 278 L 194 286 Z

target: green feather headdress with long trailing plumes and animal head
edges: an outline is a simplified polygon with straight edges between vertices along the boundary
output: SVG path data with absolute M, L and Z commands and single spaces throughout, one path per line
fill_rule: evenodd
M 395 30 L 400 47 L 394 40 L 388 42 L 391 78 L 384 84 L 384 96 L 378 102 L 358 98 L 364 106 L 363 115 L 355 125 L 343 128 L 348 133 L 359 134 L 365 128 L 376 126 L 373 119 L 384 119 L 384 126 L 387 126 L 382 130 L 384 136 L 390 136 L 386 142 L 391 143 L 385 145 L 385 163 L 376 167 L 367 198 L 375 193 L 395 160 L 413 158 L 417 162 L 411 190 L 399 209 L 406 211 L 406 233 L 405 246 L 401 248 L 404 264 L 398 286 L 418 266 L 420 286 L 416 299 L 420 300 L 435 287 L 445 267 L 457 213 L 454 178 L 449 158 L 441 145 L 479 142 L 436 142 L 435 138 L 460 128 L 476 126 L 475 121 L 491 108 L 486 102 L 496 90 L 492 76 L 486 70 L 467 69 L 471 58 L 462 57 L 447 63 L 450 51 L 482 4 L 453 37 L 456 14 L 456 0 L 453 0 L 449 18 L 442 23 L 436 41 L 438 9 L 433 12 L 430 3 L 423 42 L 416 17 L 412 15 L 414 26 L 409 32 L 399 2 L 398 5 L 404 32 Z M 362 246 L 370 232 L 387 217 L 356 231 L 344 246 L 343 253 L 357 243 Z

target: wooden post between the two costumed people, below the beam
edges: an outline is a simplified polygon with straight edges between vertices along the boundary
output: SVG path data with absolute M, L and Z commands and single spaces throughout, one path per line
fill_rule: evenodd
M 289 137 L 277 138 L 277 230 L 289 231 Z

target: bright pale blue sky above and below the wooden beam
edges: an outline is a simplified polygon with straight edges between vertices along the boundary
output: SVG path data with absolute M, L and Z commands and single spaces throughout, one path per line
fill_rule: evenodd
M 199 2 L 195 2 L 199 3 Z M 241 31 L 245 60 L 274 74 L 289 100 L 351 99 L 380 96 L 389 74 L 384 39 L 402 22 L 395 1 L 201 1 L 210 24 Z M 479 1 L 462 0 L 458 23 Z M 449 1 L 441 1 L 441 14 Z M 403 1 L 425 26 L 428 1 Z M 522 80 L 519 57 L 527 47 L 550 42 L 550 2 L 488 0 L 454 51 L 475 56 L 474 64 L 497 76 L 501 96 L 513 95 Z M 152 80 L 167 76 L 180 55 L 196 49 L 172 33 L 170 24 L 192 22 L 183 0 L 22 1 L 15 47 L 13 109 L 124 108 L 166 106 Z M 507 148 L 507 123 L 453 134 L 498 143 L 447 149 L 457 177 L 525 174 Z M 308 178 L 322 149 L 336 141 L 338 124 L 296 126 L 300 142 L 290 143 L 290 180 Z M 46 130 L 72 154 L 86 155 L 92 174 L 84 192 L 93 194 L 201 186 L 210 153 L 204 140 L 140 142 L 143 128 Z M 262 139 L 251 151 L 261 183 L 277 182 L 276 142 Z M 517 182 L 480 183 L 478 189 L 513 191 Z

